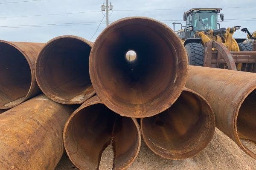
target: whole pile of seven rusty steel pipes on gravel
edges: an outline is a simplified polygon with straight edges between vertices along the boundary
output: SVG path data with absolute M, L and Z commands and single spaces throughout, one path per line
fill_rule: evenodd
M 0 61 L 0 169 L 54 169 L 65 148 L 81 170 L 101 160 L 122 170 L 142 138 L 163 158 L 185 159 L 209 144 L 215 122 L 256 159 L 247 146 L 256 143 L 256 74 L 189 66 L 179 37 L 156 20 L 118 20 L 94 43 L 1 40 Z

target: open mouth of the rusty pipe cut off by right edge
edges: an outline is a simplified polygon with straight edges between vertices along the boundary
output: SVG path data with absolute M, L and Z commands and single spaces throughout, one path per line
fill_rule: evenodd
M 243 146 L 256 154 L 256 90 L 252 91 L 241 104 L 236 127 Z

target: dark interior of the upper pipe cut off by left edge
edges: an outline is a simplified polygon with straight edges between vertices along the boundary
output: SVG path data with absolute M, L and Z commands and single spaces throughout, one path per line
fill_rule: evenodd
M 31 70 L 25 56 L 12 45 L 0 42 L 0 106 L 4 108 L 22 102 L 31 81 Z

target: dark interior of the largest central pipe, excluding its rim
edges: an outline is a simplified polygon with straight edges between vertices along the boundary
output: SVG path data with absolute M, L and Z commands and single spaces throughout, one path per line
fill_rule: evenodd
M 180 42 L 159 25 L 128 20 L 104 32 L 94 55 L 96 75 L 105 98 L 114 105 L 125 105 L 131 110 L 153 107 L 159 98 L 168 92 L 171 92 L 168 97 L 172 96 L 173 88 L 179 87 L 174 83 L 179 82 L 176 50 Z M 136 53 L 132 62 L 126 58 L 128 51 Z

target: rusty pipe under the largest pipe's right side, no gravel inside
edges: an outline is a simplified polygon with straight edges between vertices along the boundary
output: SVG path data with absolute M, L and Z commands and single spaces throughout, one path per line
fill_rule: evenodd
M 185 159 L 201 152 L 213 137 L 212 108 L 201 95 L 185 88 L 166 111 L 141 119 L 145 144 L 166 159 Z

